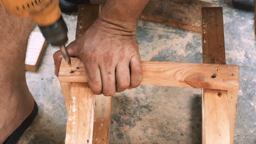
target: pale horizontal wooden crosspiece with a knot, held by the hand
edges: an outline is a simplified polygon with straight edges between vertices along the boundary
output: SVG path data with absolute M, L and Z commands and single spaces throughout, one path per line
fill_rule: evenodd
M 62 61 L 60 81 L 87 82 L 83 63 L 78 58 L 72 58 L 71 61 L 74 65 L 72 67 Z M 237 65 L 142 61 L 141 66 L 143 69 L 141 85 L 238 89 Z

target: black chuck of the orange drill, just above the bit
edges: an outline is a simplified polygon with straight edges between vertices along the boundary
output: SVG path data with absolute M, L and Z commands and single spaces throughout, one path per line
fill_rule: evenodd
M 67 25 L 63 20 L 62 16 L 59 20 L 57 20 L 53 25 L 50 26 L 38 26 L 44 38 L 50 43 L 51 45 L 65 45 L 68 40 L 67 37 Z

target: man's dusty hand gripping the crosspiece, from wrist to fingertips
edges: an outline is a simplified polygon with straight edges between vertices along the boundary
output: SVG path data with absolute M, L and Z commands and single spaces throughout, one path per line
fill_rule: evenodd
M 97 19 L 77 40 L 67 46 L 69 56 L 80 58 L 95 94 L 112 96 L 126 88 L 138 87 L 142 68 L 135 31 L 120 31 Z M 61 52 L 54 54 L 55 74 L 59 73 Z

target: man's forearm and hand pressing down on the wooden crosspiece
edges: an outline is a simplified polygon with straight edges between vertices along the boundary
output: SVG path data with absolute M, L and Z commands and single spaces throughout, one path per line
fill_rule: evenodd
M 108 0 L 100 17 L 67 46 L 70 56 L 80 58 L 95 94 L 114 95 L 138 87 L 142 68 L 135 35 L 136 24 L 148 0 Z M 61 53 L 54 55 L 56 74 Z

